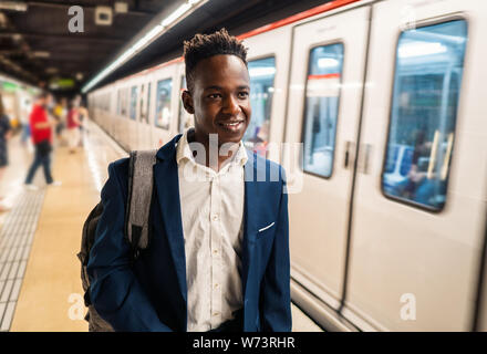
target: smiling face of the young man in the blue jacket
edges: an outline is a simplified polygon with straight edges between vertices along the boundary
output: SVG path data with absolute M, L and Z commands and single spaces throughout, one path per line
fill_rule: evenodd
M 218 145 L 238 143 L 250 123 L 250 80 L 236 55 L 215 55 L 200 61 L 194 73 L 191 95 L 183 100 L 195 114 L 195 135 L 207 140 L 218 134 Z

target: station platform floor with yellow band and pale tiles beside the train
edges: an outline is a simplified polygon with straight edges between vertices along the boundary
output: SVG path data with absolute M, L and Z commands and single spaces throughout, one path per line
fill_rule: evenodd
M 69 154 L 56 142 L 52 174 L 60 187 L 45 187 L 39 169 L 38 191 L 22 186 L 32 147 L 19 137 L 9 143 L 10 166 L 0 181 L 0 331 L 84 332 L 80 262 L 81 230 L 100 200 L 107 165 L 127 154 L 90 124 L 83 147 Z M 321 331 L 294 305 L 293 331 Z

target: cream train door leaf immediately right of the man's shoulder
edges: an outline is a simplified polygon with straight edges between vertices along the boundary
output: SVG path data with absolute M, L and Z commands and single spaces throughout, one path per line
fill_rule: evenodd
M 302 143 L 302 155 L 283 152 L 291 274 L 334 309 L 343 287 L 367 31 L 366 7 L 293 29 L 286 140 Z

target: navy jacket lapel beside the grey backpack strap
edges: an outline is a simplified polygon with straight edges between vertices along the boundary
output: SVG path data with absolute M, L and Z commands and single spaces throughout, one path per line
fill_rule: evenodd
M 157 152 L 157 163 L 154 166 L 154 180 L 170 253 L 176 268 L 179 291 L 184 300 L 187 301 L 186 256 L 175 147 L 179 137 L 180 135 L 176 136 Z

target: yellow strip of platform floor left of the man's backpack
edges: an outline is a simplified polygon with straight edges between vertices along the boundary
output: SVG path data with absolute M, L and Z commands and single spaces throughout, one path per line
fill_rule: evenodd
M 45 192 L 10 331 L 87 331 L 76 253 L 100 194 L 83 150 L 55 154 L 53 176 L 63 184 Z

